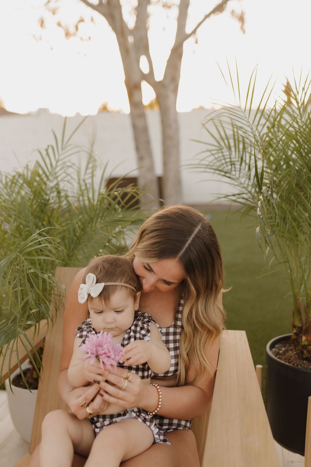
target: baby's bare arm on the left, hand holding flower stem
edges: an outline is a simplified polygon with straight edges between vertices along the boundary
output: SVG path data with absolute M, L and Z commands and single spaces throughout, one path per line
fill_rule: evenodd
M 103 370 L 97 359 L 90 364 L 90 358 L 81 360 L 86 352 L 79 348 L 82 339 L 76 337 L 71 361 L 68 368 L 68 380 L 75 388 L 87 386 L 89 382 L 104 381 Z

